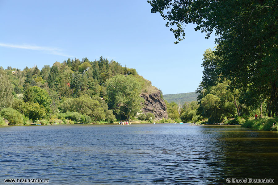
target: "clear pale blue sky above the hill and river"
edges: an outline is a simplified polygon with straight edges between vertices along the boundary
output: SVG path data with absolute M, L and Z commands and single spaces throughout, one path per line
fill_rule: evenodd
M 0 66 L 63 62 L 100 56 L 115 60 L 152 81 L 163 94 L 193 92 L 203 68 L 203 53 L 214 35 L 187 25 L 186 39 L 175 37 L 146 0 L 0 0 Z

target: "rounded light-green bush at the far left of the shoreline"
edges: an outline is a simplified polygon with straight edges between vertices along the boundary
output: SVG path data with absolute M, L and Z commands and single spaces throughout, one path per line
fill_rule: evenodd
M 23 125 L 23 115 L 12 108 L 5 108 L 0 115 L 7 119 L 11 125 Z

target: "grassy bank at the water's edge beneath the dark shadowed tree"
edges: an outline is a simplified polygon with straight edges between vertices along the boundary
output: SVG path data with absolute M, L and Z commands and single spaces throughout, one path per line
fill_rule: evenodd
M 242 123 L 242 127 L 252 128 L 256 130 L 278 130 L 278 117 L 267 117 L 257 120 L 248 120 Z

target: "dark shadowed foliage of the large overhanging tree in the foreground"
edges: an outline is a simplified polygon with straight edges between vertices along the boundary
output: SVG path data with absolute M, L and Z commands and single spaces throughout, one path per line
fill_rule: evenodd
M 153 13 L 167 20 L 178 43 L 186 24 L 195 23 L 209 38 L 215 31 L 219 70 L 233 88 L 255 97 L 278 114 L 277 0 L 149 0 Z M 255 103 L 257 103 L 255 101 Z

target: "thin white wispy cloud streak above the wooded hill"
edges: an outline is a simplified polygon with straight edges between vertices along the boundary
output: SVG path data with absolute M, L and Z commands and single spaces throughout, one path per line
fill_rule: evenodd
M 37 50 L 37 51 L 46 51 L 48 54 L 51 55 L 60 55 L 60 56 L 66 56 L 66 57 L 72 57 L 70 55 L 66 55 L 62 53 L 60 48 L 55 47 L 40 47 L 40 46 L 32 46 L 32 45 L 16 45 L 16 44 L 6 44 L 6 43 L 0 43 L 1 47 L 8 47 L 8 48 L 19 48 L 19 49 L 29 49 L 29 50 Z

